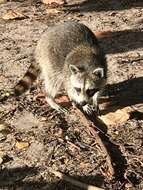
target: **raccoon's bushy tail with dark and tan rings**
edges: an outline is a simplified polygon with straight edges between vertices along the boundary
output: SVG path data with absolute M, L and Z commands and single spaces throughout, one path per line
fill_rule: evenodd
M 32 83 L 37 79 L 39 69 L 36 68 L 36 66 L 31 64 L 24 77 L 15 86 L 14 94 L 16 96 L 20 96 L 21 94 L 26 92 L 31 87 Z

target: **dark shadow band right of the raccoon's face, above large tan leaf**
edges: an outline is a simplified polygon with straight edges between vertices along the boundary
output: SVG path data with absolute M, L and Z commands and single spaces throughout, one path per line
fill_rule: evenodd
M 109 98 L 106 100 L 108 103 L 106 109 L 102 110 L 102 114 L 143 103 L 143 77 L 107 85 L 105 93 L 108 94 Z M 142 117 L 141 115 L 139 117 L 143 119 L 143 113 Z

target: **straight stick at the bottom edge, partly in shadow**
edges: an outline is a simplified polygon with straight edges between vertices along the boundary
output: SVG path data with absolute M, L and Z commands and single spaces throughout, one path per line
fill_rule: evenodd
M 104 190 L 102 188 L 99 188 L 99 187 L 96 187 L 96 186 L 93 186 L 93 185 L 88 185 L 86 183 L 83 183 L 83 182 L 80 182 L 80 181 L 77 181 L 75 179 L 73 179 L 72 177 L 69 177 L 59 171 L 55 171 L 55 170 L 51 170 L 50 169 L 50 172 L 53 173 L 56 177 L 59 177 L 60 179 L 62 180 L 65 180 L 67 182 L 70 182 L 71 184 L 79 187 L 79 188 L 82 188 L 82 189 L 85 189 L 85 190 Z

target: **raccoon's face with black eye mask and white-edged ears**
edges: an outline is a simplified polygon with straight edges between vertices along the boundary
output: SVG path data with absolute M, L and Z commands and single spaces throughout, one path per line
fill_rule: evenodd
M 70 97 L 81 106 L 93 104 L 93 97 L 97 96 L 104 86 L 104 69 L 101 67 L 85 71 L 75 65 L 70 65 Z

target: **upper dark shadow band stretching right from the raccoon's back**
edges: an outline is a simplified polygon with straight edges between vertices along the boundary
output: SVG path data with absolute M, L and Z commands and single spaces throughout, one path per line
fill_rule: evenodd
M 107 34 L 99 37 L 101 47 L 106 54 L 116 54 L 122 52 L 128 52 L 143 47 L 143 20 L 142 23 L 137 23 L 134 29 L 122 30 L 122 31 L 108 31 Z M 94 31 L 96 35 L 96 31 Z M 98 38 L 98 34 L 97 34 Z M 140 59 L 140 57 L 139 57 Z M 143 58 L 142 58 L 143 59 Z

